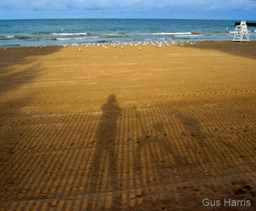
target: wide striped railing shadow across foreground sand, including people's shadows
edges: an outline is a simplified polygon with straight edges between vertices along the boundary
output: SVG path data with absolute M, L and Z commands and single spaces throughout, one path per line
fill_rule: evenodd
M 121 110 L 115 95 L 110 94 L 100 115 L 60 115 L 61 121 L 49 115 L 44 122 L 40 116 L 34 117 L 40 126 L 32 123 L 37 132 L 26 132 L 26 138 L 35 136 L 35 150 L 2 154 L 6 158 L 1 167 L 5 176 L 0 203 L 13 202 L 13 210 L 34 206 L 38 210 L 142 210 L 143 204 L 148 204 L 148 210 L 173 210 L 175 204 L 169 197 L 184 203 L 176 197 L 189 191 L 184 183 L 210 178 L 217 182 L 220 177 L 255 169 L 255 130 L 248 127 L 249 138 L 239 139 L 247 131 L 236 129 L 242 116 L 253 108 L 248 104 L 242 109 L 244 114 L 237 114 L 229 102 L 222 109 L 206 109 L 223 102 L 179 101 Z M 243 123 L 249 124 L 246 119 Z M 230 125 L 234 127 L 231 131 Z M 36 136 L 38 133 L 42 135 Z M 10 138 L 11 131 L 6 135 Z M 165 185 L 177 188 L 159 201 L 156 194 L 161 194 Z M 158 193 L 154 187 L 159 187 Z M 196 188 L 192 191 L 199 192 Z M 239 189 L 236 192 L 240 194 Z M 154 204 L 161 200 L 164 204 L 155 209 Z

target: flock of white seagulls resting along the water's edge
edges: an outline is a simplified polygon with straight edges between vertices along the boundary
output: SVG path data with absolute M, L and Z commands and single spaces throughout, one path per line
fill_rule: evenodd
M 82 43 L 81 45 L 85 46 L 87 48 L 89 48 L 91 46 L 98 46 L 98 47 L 103 47 L 105 49 L 109 49 L 107 47 L 107 45 L 110 45 L 110 46 L 112 46 L 114 48 L 117 48 L 117 47 L 121 46 L 122 49 L 124 49 L 126 45 L 130 45 L 131 47 L 137 47 L 139 50 L 141 50 L 142 47 L 144 47 L 144 46 L 146 46 L 146 45 L 148 45 L 150 43 L 152 44 L 152 46 L 157 47 L 157 48 L 162 48 L 164 46 L 166 46 L 166 47 L 170 46 L 170 43 L 168 43 L 166 41 L 164 41 L 164 42 L 156 41 L 155 43 L 152 42 L 152 41 L 151 42 L 146 42 L 145 41 L 143 43 L 142 42 L 135 42 L 135 43 L 134 42 L 133 43 L 126 43 L 126 42 L 122 42 L 122 43 L 101 43 L 101 44 L 100 43 L 98 43 L 98 44 L 96 44 L 96 43 Z M 178 43 L 176 41 L 172 42 L 171 44 L 172 45 L 178 45 Z M 190 42 L 190 43 L 187 42 L 187 44 L 195 45 L 196 42 Z M 141 45 L 142 45 L 142 47 L 141 47 Z M 185 43 L 183 41 L 180 42 L 180 45 L 182 47 L 185 47 Z M 24 45 L 22 45 L 22 46 L 24 46 Z M 47 45 L 47 44 L 46 45 L 39 45 L 40 48 L 46 48 L 47 46 L 50 46 L 50 45 Z M 56 46 L 61 46 L 61 45 L 56 45 Z M 80 45 L 77 44 L 77 43 L 72 44 L 72 46 L 73 47 L 80 47 Z M 32 46 L 28 45 L 28 47 L 32 47 Z M 63 47 L 67 48 L 68 45 L 67 44 L 63 44 Z M 38 48 L 38 46 L 35 46 L 35 48 Z M 7 51 L 6 48 L 4 50 Z M 79 51 L 82 51 L 81 48 L 79 48 Z

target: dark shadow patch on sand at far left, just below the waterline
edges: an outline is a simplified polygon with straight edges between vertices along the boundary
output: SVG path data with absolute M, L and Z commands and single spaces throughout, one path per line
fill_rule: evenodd
M 0 96 L 2 94 L 5 96 L 10 91 L 19 89 L 20 86 L 30 83 L 40 74 L 40 64 L 36 64 L 36 57 L 49 55 L 59 50 L 60 47 L 48 47 L 47 49 L 21 47 L 8 48 L 8 51 L 1 51 Z M 27 97 L 29 98 L 31 96 Z M 17 100 L 15 97 L 16 104 L 19 104 L 19 101 L 23 102 L 23 100 L 21 98 Z M 11 102 L 5 102 L 5 105 L 8 104 L 11 104 Z M 1 110 L 5 110 L 5 107 Z

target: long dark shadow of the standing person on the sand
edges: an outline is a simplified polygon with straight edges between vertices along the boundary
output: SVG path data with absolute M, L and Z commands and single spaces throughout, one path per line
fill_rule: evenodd
M 114 94 L 102 105 L 100 122 L 94 137 L 94 154 L 90 162 L 90 191 L 100 192 L 114 188 L 117 179 L 117 119 L 121 114 Z

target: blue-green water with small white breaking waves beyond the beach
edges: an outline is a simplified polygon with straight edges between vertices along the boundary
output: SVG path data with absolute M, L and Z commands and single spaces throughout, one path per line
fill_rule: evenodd
M 26 19 L 0 20 L 0 47 L 232 40 L 241 20 Z M 250 21 L 256 22 L 256 21 Z M 256 40 L 256 27 L 247 27 Z

